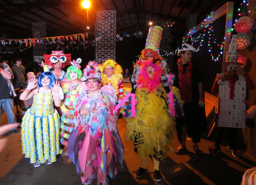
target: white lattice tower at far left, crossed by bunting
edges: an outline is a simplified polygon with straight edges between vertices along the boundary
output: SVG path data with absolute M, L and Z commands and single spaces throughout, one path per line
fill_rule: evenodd
M 47 53 L 46 46 L 46 23 L 32 23 L 33 38 L 44 38 L 40 39 L 42 43 L 35 43 L 33 47 L 34 56 L 43 56 Z

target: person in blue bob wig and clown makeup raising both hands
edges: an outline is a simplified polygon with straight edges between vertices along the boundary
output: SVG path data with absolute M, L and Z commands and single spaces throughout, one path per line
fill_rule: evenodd
M 41 163 L 57 161 L 60 153 L 60 116 L 53 107 L 61 105 L 63 91 L 51 72 L 44 72 L 38 79 L 29 80 L 27 88 L 20 95 L 21 100 L 34 96 L 30 109 L 24 114 L 21 124 L 22 153 L 30 157 L 30 163 L 39 167 Z

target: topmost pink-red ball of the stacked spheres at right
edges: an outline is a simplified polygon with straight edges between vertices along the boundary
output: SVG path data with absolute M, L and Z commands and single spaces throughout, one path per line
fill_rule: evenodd
M 235 30 L 237 33 L 250 33 L 254 20 L 250 17 L 241 17 L 236 21 Z

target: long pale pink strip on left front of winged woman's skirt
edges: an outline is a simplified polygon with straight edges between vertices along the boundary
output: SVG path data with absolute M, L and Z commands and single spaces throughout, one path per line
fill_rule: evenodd
M 89 132 L 85 134 L 83 146 L 81 150 L 79 150 L 78 152 L 79 163 L 80 163 L 81 170 L 83 172 L 85 171 L 85 164 L 86 164 L 87 152 L 88 152 L 88 147 L 90 142 L 90 136 L 91 135 Z M 82 180 L 82 183 L 85 182 L 84 176 L 81 176 L 81 180 Z

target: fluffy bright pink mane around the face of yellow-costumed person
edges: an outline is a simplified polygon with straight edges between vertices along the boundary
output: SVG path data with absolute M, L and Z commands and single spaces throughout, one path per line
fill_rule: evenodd
M 148 92 L 156 91 L 161 83 L 161 75 L 163 74 L 160 60 L 153 60 L 153 58 L 151 58 L 143 62 L 138 61 L 137 64 L 140 65 L 140 73 L 137 80 L 138 88 L 147 88 Z M 152 66 L 155 69 L 152 79 L 149 78 L 146 71 L 148 66 Z

